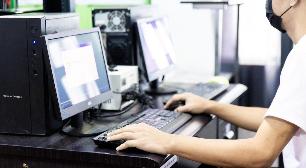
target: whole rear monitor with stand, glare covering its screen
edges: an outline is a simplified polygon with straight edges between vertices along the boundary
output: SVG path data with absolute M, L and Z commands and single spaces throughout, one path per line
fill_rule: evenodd
M 137 20 L 140 55 L 145 76 L 151 88 L 149 94 L 171 94 L 177 90 L 160 88 L 159 77 L 174 70 L 177 57 L 167 17 L 150 17 Z

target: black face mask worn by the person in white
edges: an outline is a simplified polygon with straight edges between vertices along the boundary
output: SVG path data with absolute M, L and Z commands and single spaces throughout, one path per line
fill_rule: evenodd
M 290 6 L 291 8 L 292 6 Z M 289 9 L 290 9 L 289 8 Z M 282 16 L 289 10 L 287 9 L 281 16 L 276 16 L 272 10 L 272 0 L 266 1 L 266 16 L 270 21 L 270 24 L 281 31 L 282 33 L 285 33 L 286 31 L 282 29 Z

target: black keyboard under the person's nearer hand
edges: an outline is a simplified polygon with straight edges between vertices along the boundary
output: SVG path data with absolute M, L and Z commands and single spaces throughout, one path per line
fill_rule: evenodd
M 163 109 L 147 109 L 137 114 L 136 116 L 133 116 L 128 120 L 125 120 L 124 122 L 118 124 L 116 127 L 106 132 L 103 132 L 92 140 L 95 142 L 96 145 L 99 146 L 119 146 L 125 141 L 127 141 L 127 139 L 107 141 L 107 134 L 114 130 L 120 129 L 126 125 L 145 123 L 155 128 L 158 128 L 163 132 L 173 133 L 191 118 L 192 116 L 186 113 L 178 113 Z

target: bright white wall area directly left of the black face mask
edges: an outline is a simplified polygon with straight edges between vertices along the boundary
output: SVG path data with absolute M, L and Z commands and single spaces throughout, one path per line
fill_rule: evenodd
M 266 0 L 245 0 L 240 8 L 239 63 L 266 65 L 279 63 L 281 32 L 266 17 Z

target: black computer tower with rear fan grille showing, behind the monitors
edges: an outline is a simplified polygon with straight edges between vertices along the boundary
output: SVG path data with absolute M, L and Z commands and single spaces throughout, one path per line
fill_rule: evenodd
M 112 60 L 108 63 L 137 65 L 135 22 L 157 13 L 156 6 L 151 5 L 92 10 L 93 27 L 100 27 L 105 49 Z

